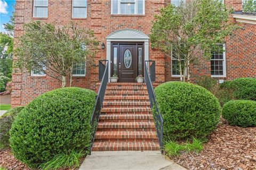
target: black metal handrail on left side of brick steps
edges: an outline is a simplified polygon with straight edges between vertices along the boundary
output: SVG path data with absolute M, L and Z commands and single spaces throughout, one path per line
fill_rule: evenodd
M 105 62 L 105 64 L 103 64 L 103 62 Z M 103 103 L 103 98 L 104 98 L 107 83 L 108 83 L 108 60 L 99 60 L 99 81 L 101 81 L 100 88 L 98 91 L 98 95 L 97 95 L 94 109 L 93 109 L 93 114 L 91 117 L 92 135 L 91 135 L 91 145 L 90 145 L 90 153 L 89 153 L 90 155 L 91 155 L 92 146 L 95 138 L 95 132 L 97 130 L 97 125 L 99 122 L 100 109 Z

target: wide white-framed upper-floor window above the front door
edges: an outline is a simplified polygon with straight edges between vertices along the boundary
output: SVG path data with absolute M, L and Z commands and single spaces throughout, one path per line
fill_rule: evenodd
M 145 14 L 145 0 L 111 0 L 111 14 Z

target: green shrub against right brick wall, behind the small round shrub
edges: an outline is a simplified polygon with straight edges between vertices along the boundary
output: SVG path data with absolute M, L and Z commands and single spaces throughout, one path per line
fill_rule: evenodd
M 235 99 L 256 101 L 256 78 L 239 78 L 220 85 L 233 91 Z

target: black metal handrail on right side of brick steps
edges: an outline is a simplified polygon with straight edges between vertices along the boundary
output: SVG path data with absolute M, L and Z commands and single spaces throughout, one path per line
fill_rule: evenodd
M 159 112 L 156 97 L 154 93 L 154 87 L 152 80 L 155 81 L 155 61 L 145 61 L 145 82 L 148 89 L 148 95 L 150 100 L 150 107 L 153 110 L 154 122 L 156 126 L 156 133 L 161 152 L 163 154 L 163 117 Z

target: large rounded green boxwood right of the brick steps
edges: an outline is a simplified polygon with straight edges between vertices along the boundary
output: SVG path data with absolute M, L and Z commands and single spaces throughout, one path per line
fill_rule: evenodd
M 220 103 L 210 91 L 185 82 L 166 82 L 155 88 L 163 116 L 164 140 L 205 138 L 220 120 Z

